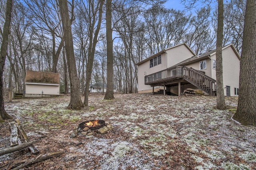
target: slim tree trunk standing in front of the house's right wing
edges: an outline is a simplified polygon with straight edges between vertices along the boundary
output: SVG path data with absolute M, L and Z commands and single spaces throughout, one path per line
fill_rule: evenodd
M 223 88 L 222 71 L 222 41 L 223 41 L 223 0 L 218 0 L 218 29 L 216 42 L 216 88 L 217 88 L 217 109 L 225 109 L 225 97 Z

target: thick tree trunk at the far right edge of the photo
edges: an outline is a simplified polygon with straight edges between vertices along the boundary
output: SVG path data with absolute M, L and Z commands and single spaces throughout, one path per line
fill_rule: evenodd
M 239 98 L 233 119 L 256 126 L 256 1 L 247 0 L 240 61 Z

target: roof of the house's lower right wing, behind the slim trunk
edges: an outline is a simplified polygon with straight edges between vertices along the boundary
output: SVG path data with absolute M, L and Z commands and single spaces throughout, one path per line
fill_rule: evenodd
M 240 59 L 240 55 L 238 54 L 238 52 L 236 51 L 235 47 L 233 44 L 228 44 L 224 47 L 222 47 L 222 50 L 226 49 L 227 47 L 232 47 L 232 49 L 234 50 L 234 52 L 236 53 L 236 56 L 238 57 L 238 59 Z M 206 58 L 210 58 L 212 55 L 216 54 L 216 49 L 214 50 L 211 50 L 211 51 L 208 51 L 206 53 L 203 53 L 201 55 L 198 55 L 198 56 L 193 56 L 189 59 L 186 59 L 176 65 L 180 65 L 180 66 L 183 66 L 183 65 L 186 65 L 186 64 L 189 64 L 189 63 L 194 63 L 195 61 L 198 61 L 198 60 L 202 60 L 202 59 L 206 59 Z

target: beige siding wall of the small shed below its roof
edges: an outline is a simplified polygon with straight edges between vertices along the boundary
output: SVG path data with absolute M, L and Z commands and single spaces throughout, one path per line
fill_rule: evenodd
M 59 86 L 54 85 L 41 85 L 41 84 L 26 84 L 26 94 L 52 94 L 59 95 Z

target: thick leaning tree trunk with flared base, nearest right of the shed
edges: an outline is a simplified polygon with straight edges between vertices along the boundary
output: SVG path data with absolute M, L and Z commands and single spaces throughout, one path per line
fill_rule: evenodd
M 69 109 L 81 109 L 84 107 L 81 96 L 80 96 L 80 86 L 76 70 L 76 61 L 74 55 L 73 38 L 71 31 L 71 21 L 68 13 L 68 2 L 67 0 L 59 0 L 60 5 L 60 15 L 62 18 L 62 27 L 64 33 L 66 57 L 68 64 L 68 74 L 70 78 L 70 103 L 68 105 Z M 73 5 L 73 4 L 72 4 Z

